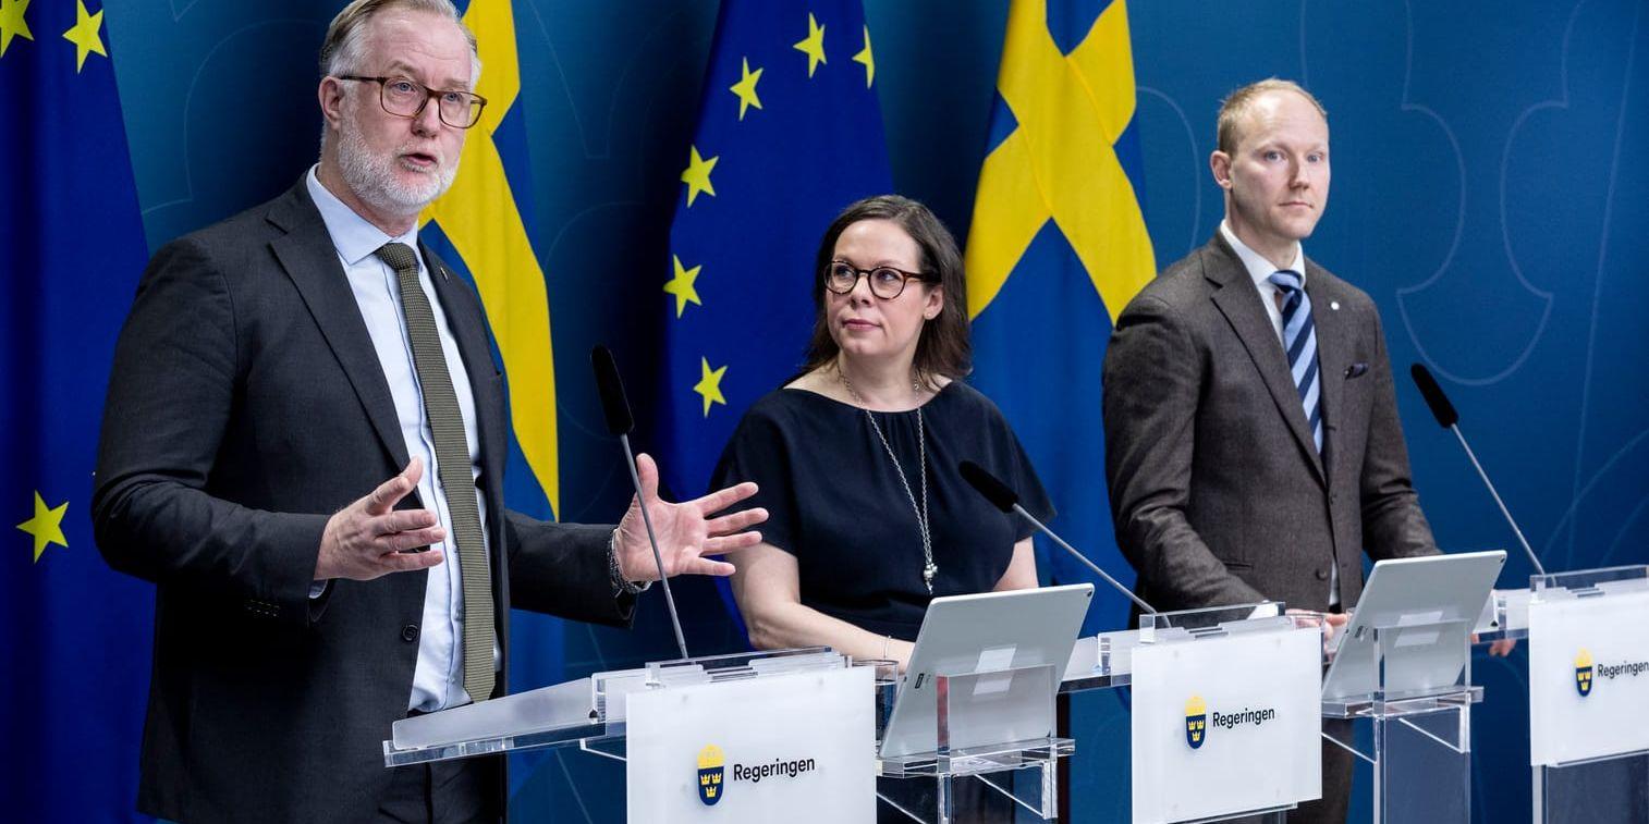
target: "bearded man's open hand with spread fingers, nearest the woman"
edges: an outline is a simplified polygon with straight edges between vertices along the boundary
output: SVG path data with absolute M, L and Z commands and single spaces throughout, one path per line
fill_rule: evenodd
M 637 455 L 635 471 L 641 480 L 641 498 L 630 499 L 630 511 L 618 522 L 618 572 L 625 580 L 658 580 L 653 549 L 646 542 L 646 524 L 641 522 L 641 504 L 653 519 L 658 537 L 658 554 L 666 575 L 732 575 L 732 564 L 706 555 L 722 555 L 762 542 L 760 532 L 742 529 L 767 521 L 767 509 L 755 508 L 721 517 L 716 513 L 755 494 L 754 483 L 740 483 L 714 491 L 704 498 L 673 504 L 658 499 L 658 465 L 653 458 Z

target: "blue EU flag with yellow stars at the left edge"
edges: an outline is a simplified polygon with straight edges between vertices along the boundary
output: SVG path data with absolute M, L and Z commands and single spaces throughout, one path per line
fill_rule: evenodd
M 96 0 L 94 0 L 96 2 Z M 102 8 L 0 0 L 0 740 L 13 821 L 139 819 L 153 588 L 89 516 L 148 257 Z

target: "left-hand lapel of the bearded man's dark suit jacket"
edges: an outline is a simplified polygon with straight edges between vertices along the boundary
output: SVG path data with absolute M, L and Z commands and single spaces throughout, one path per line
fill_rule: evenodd
M 327 224 L 310 201 L 303 181 L 275 201 L 269 209 L 269 222 L 287 232 L 269 244 L 275 259 L 287 270 L 333 356 L 343 366 L 343 374 L 359 397 L 378 440 L 397 468 L 406 466 L 407 448 L 401 437 L 389 382 L 384 379 L 383 366 L 378 364 L 378 349 L 366 333 L 366 321 L 361 320 L 361 308 L 350 290 L 350 279 L 343 274 L 331 236 L 327 234 Z

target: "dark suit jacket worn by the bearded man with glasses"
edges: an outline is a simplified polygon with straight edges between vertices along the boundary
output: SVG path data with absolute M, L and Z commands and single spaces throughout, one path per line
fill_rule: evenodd
M 503 509 L 510 422 L 486 318 L 424 254 L 475 394 L 500 644 L 511 605 L 627 621 L 632 600 L 607 577 L 610 527 Z M 140 811 L 373 814 L 427 572 L 308 592 L 328 516 L 406 463 L 389 384 L 302 181 L 155 254 L 120 331 L 92 499 L 107 562 L 157 585 Z M 414 493 L 402 506 L 422 504 Z

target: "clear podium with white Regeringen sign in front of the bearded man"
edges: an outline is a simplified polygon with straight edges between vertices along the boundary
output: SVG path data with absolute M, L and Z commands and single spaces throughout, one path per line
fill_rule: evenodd
M 384 765 L 577 748 L 632 822 L 872 821 L 872 684 L 828 648 L 663 661 L 396 722 Z

